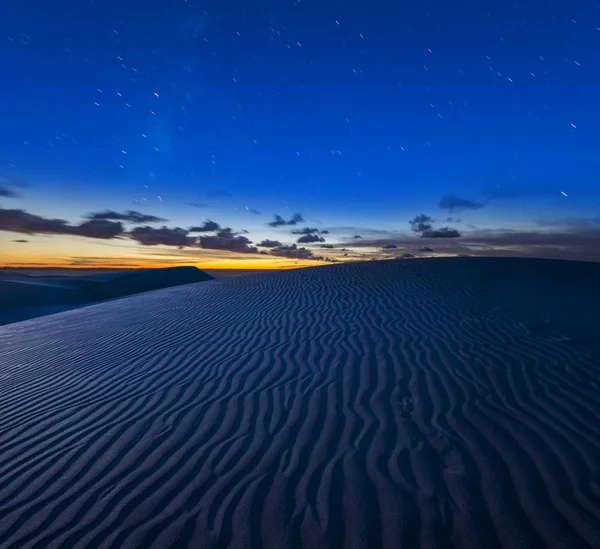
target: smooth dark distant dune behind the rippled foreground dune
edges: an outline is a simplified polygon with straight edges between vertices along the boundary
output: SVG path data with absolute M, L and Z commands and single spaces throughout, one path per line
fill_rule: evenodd
M 212 280 L 196 267 L 140 269 L 83 276 L 28 276 L 0 272 L 0 325 L 97 301 Z

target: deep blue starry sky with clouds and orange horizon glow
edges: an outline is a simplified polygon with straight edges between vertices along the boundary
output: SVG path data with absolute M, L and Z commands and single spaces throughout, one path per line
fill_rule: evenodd
M 600 260 L 600 4 L 9 0 L 0 264 Z

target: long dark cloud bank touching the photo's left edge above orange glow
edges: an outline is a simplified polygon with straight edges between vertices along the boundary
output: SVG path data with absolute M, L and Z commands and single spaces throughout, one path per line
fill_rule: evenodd
M 64 219 L 50 219 L 24 210 L 0 209 L 0 231 L 23 234 L 55 234 L 110 239 L 123 234 L 123 225 L 103 219 L 70 225 Z

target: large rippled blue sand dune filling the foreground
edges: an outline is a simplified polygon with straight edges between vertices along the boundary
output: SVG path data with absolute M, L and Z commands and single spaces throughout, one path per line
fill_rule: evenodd
M 0 328 L 0 547 L 597 548 L 599 281 L 367 262 Z

